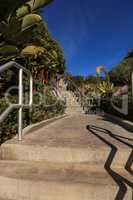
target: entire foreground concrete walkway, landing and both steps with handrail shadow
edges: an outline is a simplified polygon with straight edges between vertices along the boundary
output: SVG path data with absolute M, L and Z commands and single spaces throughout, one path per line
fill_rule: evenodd
M 108 118 L 73 114 L 2 145 L 0 197 L 132 200 L 133 133 Z

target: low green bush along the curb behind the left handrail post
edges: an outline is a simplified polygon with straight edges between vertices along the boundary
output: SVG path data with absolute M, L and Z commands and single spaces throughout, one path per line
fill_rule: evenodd
M 7 108 L 7 104 L 4 99 L 0 100 L 1 113 Z M 39 106 L 33 106 L 31 112 L 29 109 L 23 111 L 23 128 L 36 123 L 49 119 L 51 117 L 63 114 L 65 111 L 65 104 L 62 101 L 57 101 L 56 104 L 45 106 L 41 104 Z M 15 110 L 7 119 L 0 124 L 0 144 L 8 139 L 11 139 L 18 132 L 18 111 Z

